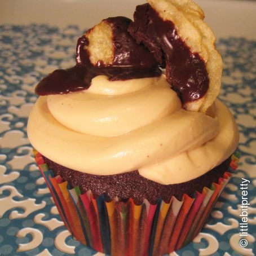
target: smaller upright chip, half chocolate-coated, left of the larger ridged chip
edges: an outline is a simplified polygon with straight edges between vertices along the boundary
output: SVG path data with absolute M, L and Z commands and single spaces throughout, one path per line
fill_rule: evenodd
M 84 50 L 95 67 L 156 67 L 157 61 L 142 45 L 137 45 L 128 32 L 131 20 L 110 17 L 88 30 Z

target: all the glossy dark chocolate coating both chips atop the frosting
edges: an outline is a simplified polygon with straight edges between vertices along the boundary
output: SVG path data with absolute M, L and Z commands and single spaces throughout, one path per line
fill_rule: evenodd
M 96 66 L 92 65 L 85 49 L 89 41 L 82 36 L 77 42 L 77 65 L 55 70 L 43 78 L 36 87 L 38 95 L 88 89 L 92 78 L 100 74 L 111 81 L 160 76 L 158 65 L 166 68 L 167 81 L 178 92 L 183 104 L 206 94 L 209 78 L 204 60 L 180 39 L 175 25 L 163 20 L 149 4 L 136 7 L 134 22 L 126 17 L 111 17 L 104 21 L 112 24 L 113 62 L 108 67 L 101 60 Z

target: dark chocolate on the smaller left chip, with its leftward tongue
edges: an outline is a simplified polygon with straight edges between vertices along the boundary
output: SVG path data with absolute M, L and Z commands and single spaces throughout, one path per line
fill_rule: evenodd
M 67 94 L 88 89 L 92 78 L 105 75 L 110 81 L 129 80 L 133 78 L 155 77 L 161 75 L 157 61 L 142 45 L 127 32 L 131 23 L 126 17 L 112 17 L 105 21 L 112 24 L 114 60 L 104 67 L 102 61 L 96 67 L 90 63 L 90 55 L 85 46 L 89 41 L 82 36 L 77 41 L 77 65 L 69 69 L 58 69 L 43 78 L 36 87 L 36 94 Z

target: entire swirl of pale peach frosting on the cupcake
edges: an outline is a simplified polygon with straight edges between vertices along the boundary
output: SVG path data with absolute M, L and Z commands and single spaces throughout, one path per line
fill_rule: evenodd
M 206 173 L 235 150 L 231 113 L 220 101 L 211 112 L 182 109 L 164 75 L 127 81 L 98 76 L 88 90 L 39 97 L 28 136 L 42 155 L 70 169 L 96 175 L 139 170 L 175 184 Z

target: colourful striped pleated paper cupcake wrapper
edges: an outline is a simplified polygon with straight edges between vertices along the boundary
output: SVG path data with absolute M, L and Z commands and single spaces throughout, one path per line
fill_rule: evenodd
M 71 188 L 61 176 L 53 176 L 40 153 L 36 162 L 50 189 L 65 226 L 92 249 L 111 255 L 162 255 L 178 250 L 201 231 L 211 209 L 237 168 L 233 155 L 230 167 L 218 183 L 204 187 L 195 196 L 184 194 L 181 201 L 172 197 L 167 204 L 156 205 L 144 200 L 135 205 L 130 198 L 122 202 L 114 198 L 104 201 L 103 195 L 93 198 L 91 191 L 82 194 Z

